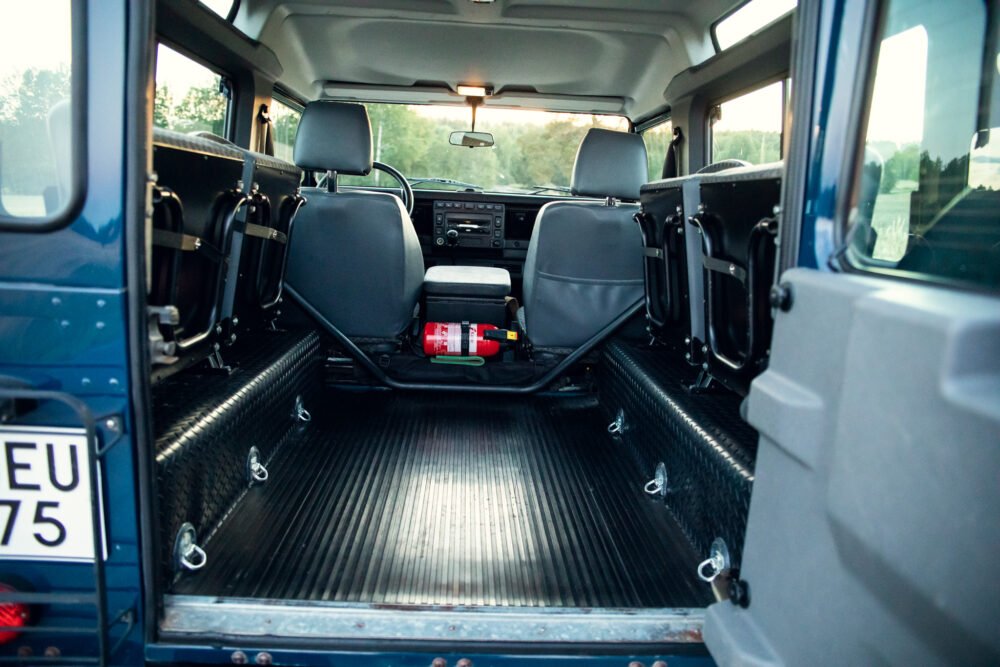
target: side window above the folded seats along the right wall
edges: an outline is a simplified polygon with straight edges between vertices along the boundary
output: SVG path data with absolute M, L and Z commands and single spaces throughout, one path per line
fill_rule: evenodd
M 786 85 L 777 81 L 712 109 L 712 162 L 763 164 L 781 159 Z

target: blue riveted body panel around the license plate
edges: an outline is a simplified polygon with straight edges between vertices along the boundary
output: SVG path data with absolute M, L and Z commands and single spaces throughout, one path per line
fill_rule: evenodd
M 115 658 L 134 665 L 142 662 L 143 619 L 122 242 L 126 9 L 125 2 L 87 6 L 88 183 L 79 216 L 48 233 L 0 233 L 0 375 L 76 396 L 98 418 L 101 442 L 117 440 L 102 470 L 107 609 L 112 618 L 132 610 L 133 628 Z M 107 429 L 112 416 L 124 429 Z M 80 425 L 68 411 L 52 411 L 40 421 Z M 27 581 L 38 592 L 94 589 L 88 564 L 0 561 L 0 574 Z M 46 605 L 36 615 L 45 627 L 96 627 L 92 605 Z M 112 630 L 112 643 L 122 639 L 125 627 Z M 52 646 L 64 657 L 92 656 L 95 639 L 24 635 L 0 647 L 0 655 L 25 646 L 35 656 Z

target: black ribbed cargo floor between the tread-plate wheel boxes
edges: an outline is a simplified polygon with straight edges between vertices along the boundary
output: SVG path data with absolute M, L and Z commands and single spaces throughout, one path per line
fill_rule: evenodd
M 592 399 L 330 393 L 174 592 L 694 607 L 697 558 Z

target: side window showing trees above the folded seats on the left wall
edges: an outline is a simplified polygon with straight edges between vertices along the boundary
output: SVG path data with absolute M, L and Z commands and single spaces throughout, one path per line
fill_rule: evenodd
M 156 49 L 153 124 L 178 132 L 226 136 L 229 82 L 169 46 Z

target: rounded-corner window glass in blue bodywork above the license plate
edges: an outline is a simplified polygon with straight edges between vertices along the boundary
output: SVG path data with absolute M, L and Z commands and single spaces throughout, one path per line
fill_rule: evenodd
M 83 194 L 73 4 L 0 4 L 0 222 L 55 222 Z

